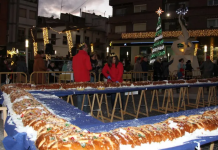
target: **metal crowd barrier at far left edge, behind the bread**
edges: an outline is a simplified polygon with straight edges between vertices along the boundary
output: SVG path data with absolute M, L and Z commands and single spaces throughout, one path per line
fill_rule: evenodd
M 2 78 L 5 81 L 2 81 Z M 9 83 L 27 83 L 27 75 L 24 72 L 0 72 L 0 83 L 0 86 Z

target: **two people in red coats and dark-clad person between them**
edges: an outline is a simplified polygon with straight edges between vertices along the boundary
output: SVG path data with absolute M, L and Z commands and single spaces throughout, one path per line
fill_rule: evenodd
M 91 71 L 96 71 L 100 67 L 101 63 L 98 63 L 96 56 L 91 55 L 91 59 L 87 53 L 88 47 L 86 44 L 80 47 L 78 54 L 73 57 L 72 69 L 74 72 L 75 82 L 92 82 Z M 108 58 L 108 62 L 104 65 L 102 73 L 107 78 L 108 82 L 122 82 L 123 79 L 123 64 L 119 61 L 117 56 L 111 56 Z M 123 97 L 123 94 L 122 96 Z M 82 108 L 83 95 L 77 96 L 78 108 Z M 111 105 L 114 106 L 115 94 L 111 95 Z M 88 97 L 85 97 L 84 108 L 85 112 L 88 112 Z

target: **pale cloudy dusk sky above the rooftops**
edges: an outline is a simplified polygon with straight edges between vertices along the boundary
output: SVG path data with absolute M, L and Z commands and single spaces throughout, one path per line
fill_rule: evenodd
M 112 15 L 112 7 L 109 6 L 109 0 L 39 0 L 39 16 L 56 18 L 60 17 L 61 1 L 63 1 L 62 13 L 71 13 L 79 15 L 80 8 L 82 11 L 96 13 L 108 17 Z

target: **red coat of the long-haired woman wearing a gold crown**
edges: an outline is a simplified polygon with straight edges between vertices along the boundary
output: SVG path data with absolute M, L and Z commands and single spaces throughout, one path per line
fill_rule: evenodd
M 123 64 L 120 62 L 117 67 L 115 64 L 112 64 L 111 68 L 106 64 L 102 69 L 102 73 L 106 78 L 108 76 L 111 77 L 111 80 L 108 80 L 108 82 L 123 82 Z

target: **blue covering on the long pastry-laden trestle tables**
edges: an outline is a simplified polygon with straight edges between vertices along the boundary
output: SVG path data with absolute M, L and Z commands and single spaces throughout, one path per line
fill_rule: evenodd
M 80 127 L 83 130 L 88 130 L 90 132 L 106 132 L 113 130 L 119 127 L 128 127 L 128 126 L 140 126 L 145 124 L 153 124 L 166 120 L 169 117 L 177 117 L 180 115 L 192 115 L 192 114 L 202 114 L 206 110 L 211 110 L 215 107 L 200 108 L 194 110 L 187 110 L 182 112 L 176 112 L 166 115 L 147 117 L 135 120 L 121 121 L 116 123 L 107 123 L 104 124 L 97 119 L 92 118 L 90 115 L 78 110 L 76 107 L 67 104 L 62 99 L 59 99 L 56 96 L 67 96 L 74 94 L 104 94 L 104 93 L 117 93 L 117 92 L 132 92 L 139 90 L 154 90 L 154 89 L 170 89 L 170 88 L 181 88 L 181 87 L 209 87 L 217 86 L 218 83 L 204 83 L 204 84 L 181 84 L 181 85 L 162 85 L 162 86 L 144 86 L 144 87 L 124 87 L 124 88 L 108 88 L 105 90 L 96 90 L 96 89 L 87 89 L 84 91 L 78 90 L 54 90 L 54 91 L 30 91 L 30 93 L 43 105 L 46 106 L 49 110 L 53 110 L 53 113 L 61 118 L 68 120 L 70 123 Z M 54 96 L 56 95 L 56 96 Z M 8 116 L 5 123 L 5 130 L 8 134 L 3 141 L 6 150 L 14 149 L 36 149 L 34 142 L 29 140 L 26 136 L 26 133 L 18 133 L 16 131 L 16 126 L 13 125 L 13 122 Z M 209 137 L 198 137 L 186 143 L 183 143 L 180 146 L 174 146 L 173 148 L 167 149 L 187 149 L 191 150 L 197 146 L 196 142 L 199 142 L 201 145 L 206 143 L 211 143 L 218 140 L 218 134 Z M 169 145 L 170 146 L 170 145 Z

